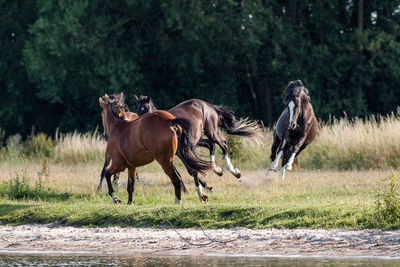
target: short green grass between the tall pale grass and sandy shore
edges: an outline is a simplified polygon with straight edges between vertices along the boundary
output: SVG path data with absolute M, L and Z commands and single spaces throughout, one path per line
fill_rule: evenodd
M 155 164 L 153 164 L 155 165 Z M 183 205 L 174 205 L 173 186 L 159 167 L 139 170 L 133 205 L 126 205 L 126 185 L 117 195 L 124 204 L 115 205 L 104 190 L 96 193 L 101 164 L 50 164 L 50 177 L 41 178 L 40 164 L 28 164 L 22 172 L 17 166 L 0 165 L 5 176 L 0 187 L 2 224 L 56 223 L 61 225 L 195 227 L 208 229 L 248 228 L 382 228 L 398 229 L 399 221 L 382 224 L 376 202 L 390 185 L 383 178 L 388 171 L 301 171 L 287 174 L 281 181 L 263 171 L 243 170 L 241 182 L 225 172 L 223 177 L 209 175 L 207 182 L 215 192 L 207 193 L 209 203 L 201 204 L 192 179 L 180 168 L 188 194 Z M 20 191 L 15 181 L 18 177 Z M 24 180 L 21 180 L 24 179 Z M 23 181 L 23 182 L 21 182 Z M 121 181 L 126 182 L 126 174 Z M 7 187 L 8 186 L 8 187 Z M 14 187 L 14 193 L 10 188 Z M 28 188 L 28 189 L 27 189 Z M 40 190 L 38 188 L 41 188 Z M 8 194 L 10 193 L 10 194 Z

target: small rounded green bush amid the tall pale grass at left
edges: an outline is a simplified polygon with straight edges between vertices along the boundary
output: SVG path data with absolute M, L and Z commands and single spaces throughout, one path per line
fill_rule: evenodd
M 24 152 L 27 156 L 50 157 L 53 150 L 54 144 L 51 137 L 39 133 L 26 143 Z

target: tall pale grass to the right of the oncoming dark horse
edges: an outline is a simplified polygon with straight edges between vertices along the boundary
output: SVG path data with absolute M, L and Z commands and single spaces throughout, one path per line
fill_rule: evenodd
M 301 155 L 307 168 L 376 169 L 400 166 L 400 116 L 335 119 L 322 124 Z

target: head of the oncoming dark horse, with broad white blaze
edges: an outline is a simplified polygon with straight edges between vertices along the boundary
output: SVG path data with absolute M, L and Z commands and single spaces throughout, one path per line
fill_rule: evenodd
M 295 129 L 304 101 L 310 101 L 308 90 L 301 80 L 291 81 L 285 88 L 285 104 L 289 110 L 289 129 Z

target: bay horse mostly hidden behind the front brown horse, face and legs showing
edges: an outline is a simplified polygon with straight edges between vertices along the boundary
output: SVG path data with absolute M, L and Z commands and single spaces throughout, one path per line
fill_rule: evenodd
M 124 103 L 124 94 L 120 93 L 120 94 L 112 94 L 109 96 L 110 99 L 110 104 L 111 104 L 111 109 L 113 111 L 113 113 L 115 115 L 117 115 L 118 117 L 126 120 L 126 121 L 134 121 L 137 118 L 139 118 L 139 116 L 134 113 L 134 112 L 130 112 L 128 106 Z M 105 132 L 103 132 L 103 137 L 106 141 L 108 141 L 108 136 Z M 107 157 L 106 157 L 107 159 Z M 97 186 L 97 192 L 101 191 L 101 187 L 103 184 L 103 180 L 104 180 L 104 174 L 106 171 L 106 167 L 109 165 L 110 162 L 108 162 L 107 160 L 104 161 L 104 165 L 103 165 L 103 169 L 101 170 L 101 174 L 100 174 L 100 182 L 99 185 Z M 113 183 L 117 184 L 119 179 L 119 173 L 114 174 L 114 179 L 113 179 Z M 138 180 L 138 174 L 136 173 L 136 179 Z

